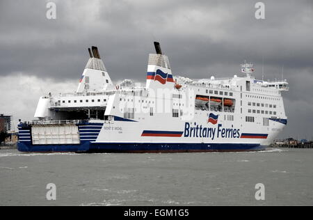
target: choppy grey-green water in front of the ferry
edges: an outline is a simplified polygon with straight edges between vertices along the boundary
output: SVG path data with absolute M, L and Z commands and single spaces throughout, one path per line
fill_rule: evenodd
M 56 184 L 56 201 L 46 185 Z M 255 200 L 255 184 L 265 201 Z M 0 205 L 313 205 L 313 149 L 175 154 L 0 150 Z

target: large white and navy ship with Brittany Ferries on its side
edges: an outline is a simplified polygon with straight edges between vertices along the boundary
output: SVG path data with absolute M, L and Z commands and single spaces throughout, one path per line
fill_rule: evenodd
M 77 91 L 40 97 L 31 122 L 19 122 L 22 152 L 215 152 L 264 150 L 287 125 L 286 80 L 240 75 L 189 79 L 172 74 L 154 42 L 145 84 L 113 84 L 97 47 Z

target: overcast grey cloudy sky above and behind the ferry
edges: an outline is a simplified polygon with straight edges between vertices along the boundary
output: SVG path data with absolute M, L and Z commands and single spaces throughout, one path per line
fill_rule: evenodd
M 264 79 L 281 79 L 284 66 L 289 125 L 280 137 L 313 136 L 312 0 L 262 1 L 266 19 L 255 19 L 257 1 L 142 0 L 54 1 L 49 20 L 47 2 L 0 1 L 1 112 L 31 119 L 42 92 L 74 91 L 91 45 L 113 81 L 144 81 L 158 40 L 174 74 L 190 78 L 231 77 L 244 60 L 262 78 L 264 60 Z

